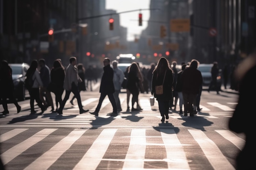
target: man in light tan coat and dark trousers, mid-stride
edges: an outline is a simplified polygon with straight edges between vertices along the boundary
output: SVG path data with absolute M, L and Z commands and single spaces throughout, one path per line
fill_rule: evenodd
M 67 99 L 70 97 L 70 93 L 74 93 L 74 96 L 77 99 L 79 106 L 80 114 L 88 112 L 89 110 L 84 110 L 81 102 L 81 97 L 78 89 L 78 82 L 82 82 L 82 79 L 78 75 L 76 68 L 76 57 L 70 57 L 70 64 L 67 66 L 66 75 L 64 79 L 64 89 L 66 91 L 65 97 L 61 102 L 61 106 L 58 109 L 58 114 L 62 115 L 63 108 L 67 102 Z

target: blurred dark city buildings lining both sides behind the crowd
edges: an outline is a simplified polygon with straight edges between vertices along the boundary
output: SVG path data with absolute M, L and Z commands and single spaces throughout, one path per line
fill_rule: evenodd
M 150 10 L 148 27 L 127 42 L 127 28 L 116 11 L 106 10 L 105 0 L 0 0 L 0 57 L 9 63 L 45 58 L 51 66 L 57 58 L 67 65 L 75 55 L 87 67 L 139 53 L 145 64 L 161 56 L 178 64 L 236 64 L 256 46 L 255 8 L 255 0 L 150 0 L 150 9 L 159 10 Z M 171 20 L 189 21 L 189 31 L 171 31 Z

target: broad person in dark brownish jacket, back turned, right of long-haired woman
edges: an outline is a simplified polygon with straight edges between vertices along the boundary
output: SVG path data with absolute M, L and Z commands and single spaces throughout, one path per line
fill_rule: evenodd
M 184 100 L 184 116 L 194 116 L 197 114 L 196 111 L 196 97 L 200 91 L 203 78 L 201 72 L 197 69 L 199 62 L 192 60 L 189 67 L 186 68 L 182 75 L 182 95 Z

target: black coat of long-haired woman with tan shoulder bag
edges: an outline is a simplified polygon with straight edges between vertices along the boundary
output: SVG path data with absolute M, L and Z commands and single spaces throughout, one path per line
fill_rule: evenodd
M 163 84 L 164 80 L 164 84 Z M 163 91 L 164 94 L 162 95 L 156 95 L 155 94 L 155 86 L 159 86 L 163 84 Z M 153 77 L 152 77 L 152 91 L 151 94 L 154 94 L 154 97 L 157 98 L 157 100 L 161 101 L 169 101 L 173 97 L 172 93 L 172 87 L 173 87 L 173 71 L 166 70 L 166 75 L 164 78 L 164 73 L 157 76 L 157 71 L 154 71 Z

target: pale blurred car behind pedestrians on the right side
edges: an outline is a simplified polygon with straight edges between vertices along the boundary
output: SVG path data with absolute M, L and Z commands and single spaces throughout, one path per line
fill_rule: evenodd
M 198 65 L 198 70 L 201 71 L 202 77 L 203 77 L 203 86 L 209 86 L 211 82 L 211 67 L 213 64 L 199 64 Z M 222 84 L 222 70 L 219 69 L 219 75 L 217 76 L 217 86 L 218 89 L 220 89 L 221 84 Z M 215 87 L 213 87 L 215 89 Z

